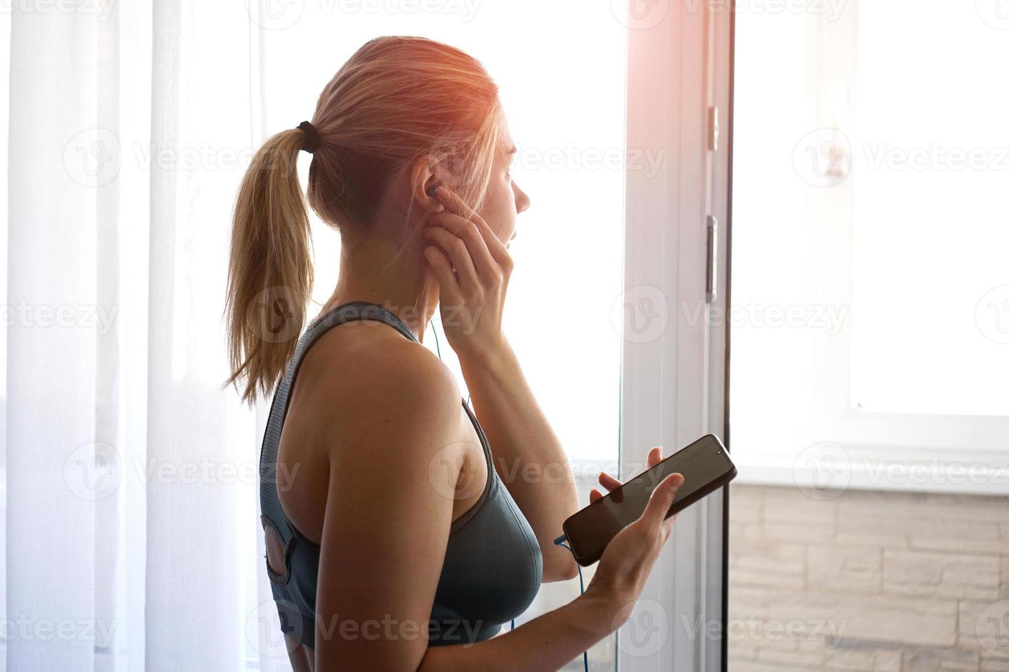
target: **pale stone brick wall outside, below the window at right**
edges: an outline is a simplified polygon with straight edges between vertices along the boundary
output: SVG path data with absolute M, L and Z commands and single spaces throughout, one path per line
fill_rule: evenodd
M 1009 496 L 732 488 L 731 672 L 1009 672 Z

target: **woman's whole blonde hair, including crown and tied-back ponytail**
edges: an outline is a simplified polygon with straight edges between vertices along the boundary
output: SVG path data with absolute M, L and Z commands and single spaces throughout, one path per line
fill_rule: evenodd
M 479 210 L 499 115 L 497 87 L 472 56 L 423 37 L 372 39 L 319 96 L 308 205 L 341 233 L 366 235 L 389 177 L 431 155 L 453 175 L 452 188 Z M 235 204 L 227 384 L 250 404 L 284 374 L 312 292 L 311 231 L 297 170 L 305 138 L 293 128 L 266 140 Z M 400 253 L 419 236 L 407 232 Z

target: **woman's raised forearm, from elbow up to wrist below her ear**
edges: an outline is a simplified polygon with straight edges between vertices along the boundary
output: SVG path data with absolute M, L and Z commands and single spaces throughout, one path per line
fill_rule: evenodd
M 540 542 L 544 580 L 571 578 L 574 560 L 553 540 L 578 510 L 574 476 L 515 352 L 506 340 L 478 361 L 460 358 L 460 365 L 497 474 Z

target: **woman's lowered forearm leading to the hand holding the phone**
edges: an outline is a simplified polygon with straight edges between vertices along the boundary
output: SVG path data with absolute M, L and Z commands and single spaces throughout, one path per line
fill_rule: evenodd
M 418 672 L 554 672 L 620 625 L 610 600 L 582 594 L 560 609 L 476 644 L 430 647 Z

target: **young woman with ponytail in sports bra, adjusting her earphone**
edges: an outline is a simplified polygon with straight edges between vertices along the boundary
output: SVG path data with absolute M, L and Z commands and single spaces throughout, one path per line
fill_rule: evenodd
M 342 241 L 339 282 L 304 333 L 303 149 L 313 154 L 308 204 Z M 515 151 L 476 60 L 381 37 L 326 86 L 311 123 L 266 141 L 244 177 L 231 382 L 249 401 L 275 390 L 260 497 L 295 670 L 559 669 L 627 620 L 670 534 L 680 475 L 612 540 L 583 595 L 501 632 L 542 581 L 576 575 L 553 540 L 579 508 L 501 330 L 509 242 L 530 204 L 509 173 Z M 439 307 L 479 421 L 420 342 Z

